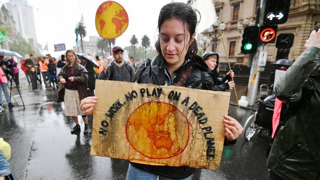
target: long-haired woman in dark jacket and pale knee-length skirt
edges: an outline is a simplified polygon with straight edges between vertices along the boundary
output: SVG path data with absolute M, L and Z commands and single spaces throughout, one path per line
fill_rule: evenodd
M 75 126 L 71 130 L 71 134 L 80 132 L 80 125 L 78 115 L 82 116 L 85 124 L 84 134 L 89 132 L 88 119 L 81 111 L 80 101 L 89 95 L 88 87 L 88 73 L 85 67 L 80 64 L 75 52 L 67 50 L 65 53 L 66 65 L 58 74 L 58 81 L 63 84 L 65 89 L 64 94 L 64 114 L 72 117 Z M 62 87 L 62 86 L 61 86 Z M 59 87 L 59 90 L 62 88 Z

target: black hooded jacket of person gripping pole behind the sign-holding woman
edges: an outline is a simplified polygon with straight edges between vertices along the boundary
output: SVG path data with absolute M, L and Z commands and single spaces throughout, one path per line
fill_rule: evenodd
M 212 70 L 212 71 L 208 71 L 208 74 L 210 75 L 210 77 L 212 78 L 213 81 L 213 90 L 214 91 L 224 91 L 224 90 L 229 90 L 229 84 L 228 83 L 224 83 L 226 80 L 231 81 L 230 76 L 226 76 L 224 75 L 223 78 L 219 78 L 220 74 L 218 72 L 218 65 L 219 65 L 219 54 L 215 53 L 215 52 L 206 52 L 205 54 L 203 54 L 202 56 L 202 60 L 205 60 L 208 56 L 211 55 L 215 55 L 217 57 L 217 65 L 216 67 Z

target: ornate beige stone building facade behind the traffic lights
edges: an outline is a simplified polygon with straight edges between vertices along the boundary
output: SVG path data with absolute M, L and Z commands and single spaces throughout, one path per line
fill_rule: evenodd
M 243 29 L 239 30 L 239 24 L 244 27 L 249 23 L 256 22 L 256 10 L 260 6 L 260 0 L 213 0 L 220 22 L 224 22 L 224 45 L 232 64 L 246 65 L 248 55 L 241 53 L 241 41 Z M 244 24 L 244 20 L 246 24 Z M 275 43 L 267 44 L 264 51 L 268 52 L 268 61 L 278 59 L 296 59 L 303 51 L 304 44 L 309 37 L 310 31 L 320 25 L 320 0 L 291 0 L 288 21 L 278 25 L 277 35 L 281 33 L 293 33 L 294 42 L 290 49 L 277 49 Z M 204 36 L 212 38 L 219 36 L 219 31 L 215 29 L 209 36 L 208 31 L 202 32 Z M 215 35 L 216 33 L 216 35 Z M 220 55 L 220 62 L 226 63 L 224 45 L 221 36 L 217 41 L 211 41 L 211 46 L 206 51 L 214 49 Z M 202 44 L 203 46 L 203 44 Z M 201 47 L 203 49 L 203 47 Z

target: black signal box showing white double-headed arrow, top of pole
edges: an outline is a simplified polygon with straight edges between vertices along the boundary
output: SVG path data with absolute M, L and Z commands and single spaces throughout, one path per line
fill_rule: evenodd
M 284 24 L 288 20 L 290 0 L 265 0 L 264 25 Z

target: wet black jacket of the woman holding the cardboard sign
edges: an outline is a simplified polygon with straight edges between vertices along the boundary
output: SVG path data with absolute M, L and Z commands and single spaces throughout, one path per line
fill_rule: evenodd
M 176 78 L 172 80 L 173 85 L 176 85 L 177 81 L 188 67 L 192 67 L 192 71 L 185 84 L 182 85 L 183 87 L 212 90 L 211 77 L 206 73 L 206 71 L 208 71 L 208 66 L 198 56 L 196 56 L 194 60 L 187 60 L 182 67 L 175 71 Z M 165 76 L 164 60 L 162 56 L 159 55 L 153 60 L 146 59 L 141 62 L 133 78 L 133 82 L 163 86 L 165 85 Z M 133 162 L 130 162 L 130 164 L 140 170 L 177 180 L 185 179 L 195 172 L 195 168 L 187 166 L 153 166 Z

